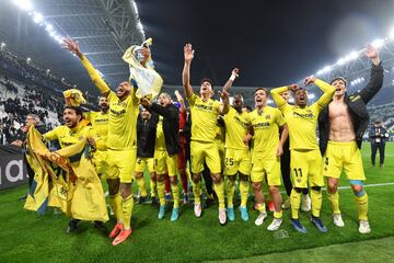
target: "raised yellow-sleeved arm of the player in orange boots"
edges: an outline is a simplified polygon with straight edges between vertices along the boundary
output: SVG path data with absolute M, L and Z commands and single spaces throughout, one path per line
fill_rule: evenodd
M 107 96 L 111 91 L 109 87 L 103 80 L 97 70 L 93 67 L 93 65 L 88 60 L 88 58 L 81 53 L 78 42 L 74 42 L 68 36 L 63 39 L 63 47 L 70 50 L 72 54 L 76 54 L 81 59 L 81 62 L 86 69 L 94 85 L 100 90 L 102 95 Z

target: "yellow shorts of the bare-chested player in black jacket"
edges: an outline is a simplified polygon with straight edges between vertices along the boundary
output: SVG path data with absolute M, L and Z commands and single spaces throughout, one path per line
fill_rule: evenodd
M 323 162 L 324 176 L 339 179 L 341 171 L 345 170 L 348 180 L 366 180 L 361 152 L 356 141 L 328 140 Z

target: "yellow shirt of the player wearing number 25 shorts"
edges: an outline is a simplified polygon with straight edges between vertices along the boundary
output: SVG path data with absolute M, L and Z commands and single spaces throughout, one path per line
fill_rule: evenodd
M 225 124 L 225 148 L 227 149 L 246 149 L 247 145 L 244 144 L 247 127 L 250 125 L 248 115 L 246 112 L 239 113 L 232 106 L 224 115 Z

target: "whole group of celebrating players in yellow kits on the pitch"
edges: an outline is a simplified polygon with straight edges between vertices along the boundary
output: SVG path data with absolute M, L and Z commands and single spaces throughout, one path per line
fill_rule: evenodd
M 371 231 L 360 148 L 369 124 L 367 104 L 383 83 L 376 47 L 366 46 L 370 79 L 356 93 L 347 93 L 343 77 L 325 82 L 311 76 L 303 84 L 257 88 L 251 108 L 241 93 L 232 92 L 242 69 L 234 68 L 223 87 L 201 78 L 194 90 L 192 44 L 184 46 L 183 89 L 161 92 L 163 80 L 153 68 L 151 45 L 150 38 L 126 50 L 123 59 L 130 78 L 112 91 L 78 42 L 63 39 L 101 92 L 101 111 L 83 111 L 85 99 L 72 89 L 65 92 L 63 125 L 39 134 L 34 122 L 27 123 L 25 156 L 35 183 L 25 208 L 44 213 L 47 206 L 56 207 L 70 217 L 67 232 L 78 229 L 80 220 L 105 229 L 104 222 L 114 217 L 108 237 L 117 245 L 132 232 L 136 181 L 138 202 L 158 207 L 158 220 L 176 224 L 186 213 L 199 218 L 207 206 L 218 204 L 222 226 L 251 219 L 268 231 L 289 224 L 302 233 L 310 227 L 324 233 L 329 229 L 321 220 L 323 187 L 334 226 L 346 227 L 338 194 L 344 171 L 358 210 L 358 231 Z M 322 95 L 309 103 L 314 85 Z M 220 101 L 212 99 L 216 91 Z M 268 105 L 269 99 L 275 106 Z M 310 213 L 301 214 L 301 208 Z M 301 216 L 311 225 L 301 224 Z

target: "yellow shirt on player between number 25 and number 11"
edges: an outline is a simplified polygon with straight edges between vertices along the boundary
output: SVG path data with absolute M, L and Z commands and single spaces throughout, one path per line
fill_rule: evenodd
M 253 151 L 270 152 L 279 145 L 279 127 L 285 125 L 281 112 L 271 106 L 265 106 L 259 113 L 257 108 L 248 114 L 252 123 Z

